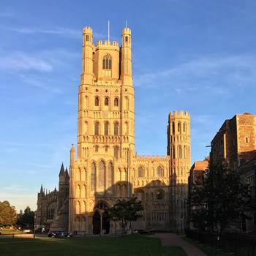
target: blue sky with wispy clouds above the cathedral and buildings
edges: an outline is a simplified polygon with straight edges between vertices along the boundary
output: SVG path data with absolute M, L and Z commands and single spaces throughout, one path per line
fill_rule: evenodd
M 96 3 L 96 4 L 94 4 Z M 132 29 L 135 143 L 166 154 L 167 116 L 191 113 L 192 161 L 236 113 L 255 113 L 256 2 L 0 2 L 0 200 L 36 208 L 77 141 L 83 26 L 94 42 Z

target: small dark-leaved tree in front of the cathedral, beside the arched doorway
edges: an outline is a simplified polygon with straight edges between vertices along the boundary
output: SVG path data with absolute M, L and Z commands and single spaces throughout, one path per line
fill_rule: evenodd
M 143 206 L 137 197 L 132 197 L 128 200 L 118 200 L 117 203 L 108 208 L 110 214 L 110 220 L 118 222 L 122 228 L 122 233 L 125 233 L 129 222 L 135 222 L 138 218 L 143 215 L 140 214 L 143 211 Z

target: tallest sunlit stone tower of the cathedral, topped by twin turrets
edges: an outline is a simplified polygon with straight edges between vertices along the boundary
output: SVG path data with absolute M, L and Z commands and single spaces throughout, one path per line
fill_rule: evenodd
M 94 45 L 92 29 L 87 26 L 83 29 L 78 159 L 73 146 L 70 151 L 71 231 L 94 232 L 97 202 L 104 200 L 104 204 L 111 204 L 117 197 L 127 197 L 131 178 L 128 159 L 135 152 L 131 48 L 129 28 L 122 31 L 121 47 L 118 42 L 108 40 L 99 40 Z M 124 175 L 120 177 L 120 173 Z M 127 184 L 117 189 L 118 181 Z

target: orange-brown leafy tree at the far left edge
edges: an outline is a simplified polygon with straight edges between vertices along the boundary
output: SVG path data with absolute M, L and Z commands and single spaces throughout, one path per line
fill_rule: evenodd
M 8 201 L 0 202 L 0 227 L 12 226 L 16 222 L 16 210 Z

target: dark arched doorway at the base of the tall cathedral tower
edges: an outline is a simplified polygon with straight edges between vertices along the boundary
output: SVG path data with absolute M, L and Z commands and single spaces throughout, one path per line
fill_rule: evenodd
M 101 231 L 102 234 L 108 234 L 110 232 L 110 219 L 106 208 L 107 206 L 105 203 L 98 203 L 97 206 L 94 207 L 94 216 L 92 220 L 94 235 L 99 235 Z

